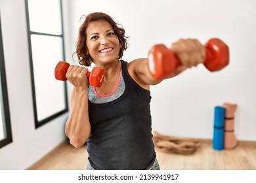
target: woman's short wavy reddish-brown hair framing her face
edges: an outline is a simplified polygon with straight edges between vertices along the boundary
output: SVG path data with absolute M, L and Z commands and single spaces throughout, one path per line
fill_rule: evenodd
M 118 59 L 121 59 L 123 56 L 123 51 L 125 51 L 128 47 L 127 40 L 129 37 L 125 36 L 125 29 L 123 29 L 123 27 L 120 24 L 117 24 L 111 16 L 109 16 L 108 14 L 104 14 L 102 12 L 93 12 L 91 14 L 88 14 L 87 16 L 83 15 L 81 16 L 80 20 L 83 18 L 85 18 L 85 21 L 79 27 L 79 33 L 78 33 L 78 38 L 76 42 L 76 52 L 74 52 L 74 54 L 77 55 L 79 64 L 90 66 L 91 63 L 93 62 L 93 59 L 91 58 L 91 56 L 87 54 L 88 48 L 86 45 L 86 38 L 87 38 L 86 29 L 91 22 L 96 20 L 105 20 L 112 26 L 112 29 L 114 30 L 114 33 L 119 40 L 120 50 L 119 50 Z

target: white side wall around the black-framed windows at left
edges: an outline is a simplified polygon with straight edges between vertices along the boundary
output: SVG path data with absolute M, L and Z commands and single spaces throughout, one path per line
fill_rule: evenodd
M 0 149 L 0 169 L 26 169 L 66 139 L 67 114 L 35 129 L 25 1 L 0 5 L 13 140 Z

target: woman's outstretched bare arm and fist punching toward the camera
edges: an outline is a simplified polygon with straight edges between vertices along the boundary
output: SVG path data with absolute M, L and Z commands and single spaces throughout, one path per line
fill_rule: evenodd
M 179 58 L 181 65 L 173 73 L 159 80 L 156 80 L 150 73 L 148 59 L 135 59 L 128 64 L 129 74 L 142 88 L 149 89 L 149 85 L 159 84 L 164 79 L 172 78 L 188 68 L 196 67 L 199 63 L 203 63 L 205 58 L 205 47 L 197 39 L 180 39 L 174 42 L 169 49 Z

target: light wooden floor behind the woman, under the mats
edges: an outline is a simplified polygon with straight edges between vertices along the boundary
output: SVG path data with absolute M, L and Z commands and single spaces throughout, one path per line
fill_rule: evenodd
M 211 141 L 200 141 L 194 154 L 166 154 L 156 149 L 160 169 L 175 170 L 255 170 L 256 143 L 240 142 L 232 150 L 215 151 Z M 74 148 L 62 142 L 29 170 L 83 170 L 87 164 L 86 147 Z

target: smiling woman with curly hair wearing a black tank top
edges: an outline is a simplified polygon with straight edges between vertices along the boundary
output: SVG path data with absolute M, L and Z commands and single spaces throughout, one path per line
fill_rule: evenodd
M 150 85 L 160 83 L 148 59 L 121 60 L 127 48 L 125 30 L 107 14 L 86 16 L 79 28 L 76 54 L 81 65 L 104 69 L 100 88 L 89 86 L 88 69 L 71 65 L 66 78 L 74 86 L 65 133 L 79 148 L 87 142 L 87 169 L 160 169 L 152 142 Z M 180 40 L 170 48 L 181 60 L 171 78 L 203 62 L 197 40 Z

